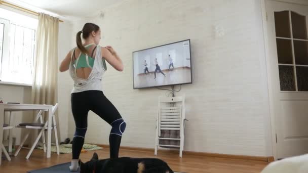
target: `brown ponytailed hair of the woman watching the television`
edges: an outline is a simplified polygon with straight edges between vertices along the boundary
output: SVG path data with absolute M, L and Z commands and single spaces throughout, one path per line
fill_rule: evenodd
M 80 49 L 80 51 L 84 54 L 88 53 L 88 50 L 83 46 L 82 40 L 81 40 L 81 34 L 83 34 L 83 38 L 87 39 L 92 31 L 97 32 L 99 30 L 99 26 L 97 26 L 94 23 L 86 23 L 83 27 L 83 29 L 76 34 L 76 44 L 77 47 Z

